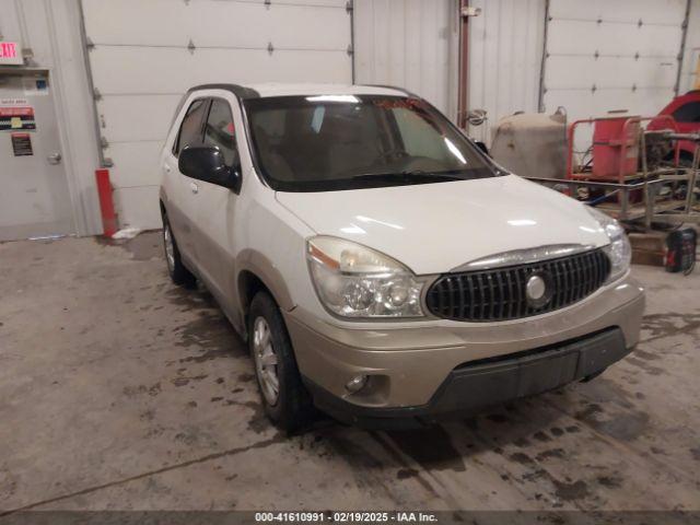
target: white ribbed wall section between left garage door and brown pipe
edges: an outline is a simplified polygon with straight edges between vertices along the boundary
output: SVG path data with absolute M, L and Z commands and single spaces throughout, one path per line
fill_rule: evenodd
M 355 82 L 405 88 L 456 116 L 457 3 L 354 0 Z

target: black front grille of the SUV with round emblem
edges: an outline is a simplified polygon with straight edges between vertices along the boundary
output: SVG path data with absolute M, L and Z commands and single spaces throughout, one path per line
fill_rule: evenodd
M 527 281 L 535 275 L 546 284 L 544 304 L 526 294 Z M 445 319 L 520 319 L 576 303 L 600 288 L 609 275 L 610 260 L 594 249 L 508 268 L 447 273 L 430 287 L 425 300 L 428 310 Z

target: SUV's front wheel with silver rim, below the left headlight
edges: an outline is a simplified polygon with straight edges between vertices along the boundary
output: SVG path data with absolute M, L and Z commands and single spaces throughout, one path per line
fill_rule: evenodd
M 265 412 L 276 427 L 293 432 L 310 422 L 313 405 L 284 319 L 267 292 L 253 298 L 248 319 L 248 348 Z

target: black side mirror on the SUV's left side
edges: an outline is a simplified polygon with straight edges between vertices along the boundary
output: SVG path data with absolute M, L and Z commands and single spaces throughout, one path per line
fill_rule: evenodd
M 223 153 L 211 145 L 188 145 L 179 152 L 177 167 L 183 175 L 238 191 L 241 172 L 238 163 L 226 166 Z

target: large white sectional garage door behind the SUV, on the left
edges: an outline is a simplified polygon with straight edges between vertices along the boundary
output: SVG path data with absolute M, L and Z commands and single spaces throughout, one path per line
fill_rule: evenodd
M 158 154 L 206 82 L 352 81 L 346 0 L 82 0 L 121 226 L 160 228 Z

